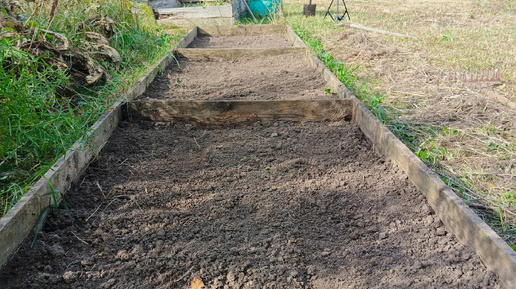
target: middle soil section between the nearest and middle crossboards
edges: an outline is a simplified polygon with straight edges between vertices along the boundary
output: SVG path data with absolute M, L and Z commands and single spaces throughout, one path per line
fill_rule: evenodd
M 179 58 L 140 99 L 273 100 L 334 98 L 326 81 L 299 54 Z M 328 90 L 329 91 L 329 90 Z M 329 91 L 331 92 L 331 91 Z

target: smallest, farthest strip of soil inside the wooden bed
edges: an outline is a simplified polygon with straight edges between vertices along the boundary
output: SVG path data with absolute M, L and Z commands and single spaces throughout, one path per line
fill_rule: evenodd
M 293 47 L 284 35 L 268 34 L 256 36 L 199 36 L 188 48 L 288 48 Z

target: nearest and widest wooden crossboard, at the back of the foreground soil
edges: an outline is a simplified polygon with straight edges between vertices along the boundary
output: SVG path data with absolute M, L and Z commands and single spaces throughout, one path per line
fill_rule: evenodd
M 224 127 L 256 121 L 351 121 L 353 101 L 135 101 L 128 103 L 132 119 L 187 122 L 201 127 Z

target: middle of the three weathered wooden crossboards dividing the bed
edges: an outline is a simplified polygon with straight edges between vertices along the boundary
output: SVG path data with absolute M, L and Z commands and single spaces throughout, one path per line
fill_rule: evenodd
M 304 48 L 225 48 L 225 49 L 208 49 L 208 48 L 185 48 L 176 51 L 177 57 L 184 57 L 196 60 L 230 57 L 263 57 L 283 54 L 299 54 L 306 55 Z

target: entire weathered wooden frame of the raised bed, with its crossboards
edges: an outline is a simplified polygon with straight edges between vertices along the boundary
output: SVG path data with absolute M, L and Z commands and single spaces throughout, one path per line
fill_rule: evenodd
M 268 53 L 306 53 L 311 65 L 336 89 L 338 100 L 303 101 L 136 101 L 155 76 L 179 57 L 259 55 L 253 49 L 184 49 L 197 35 L 252 35 L 285 33 L 293 47 Z M 384 126 L 307 48 L 293 30 L 284 25 L 195 27 L 171 51 L 149 69 L 119 101 L 92 126 L 85 140 L 78 140 L 56 164 L 38 180 L 22 199 L 0 219 L 0 266 L 12 256 L 23 240 L 32 235 L 43 211 L 51 204 L 50 192 L 65 192 L 86 169 L 118 126 L 122 110 L 129 117 L 155 121 L 184 120 L 204 126 L 224 126 L 234 122 L 284 119 L 290 121 L 347 120 L 356 123 L 376 151 L 398 165 L 426 196 L 429 205 L 447 229 L 470 246 L 486 267 L 497 274 L 505 288 L 516 288 L 516 252 L 513 251 L 465 202 L 419 160 Z M 128 103 L 128 105 L 125 105 Z M 51 185 L 50 185 L 51 184 Z

